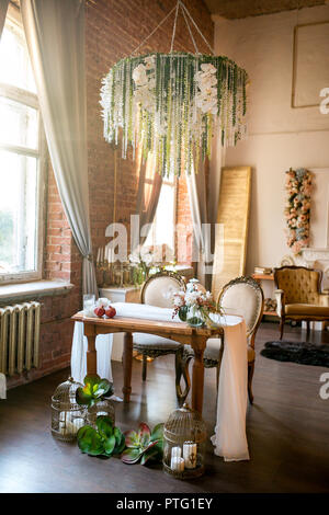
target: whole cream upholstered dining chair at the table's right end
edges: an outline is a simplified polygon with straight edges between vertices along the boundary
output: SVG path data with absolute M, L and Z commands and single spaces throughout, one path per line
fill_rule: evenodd
M 252 404 L 252 377 L 254 371 L 254 339 L 256 333 L 261 322 L 264 309 L 264 295 L 260 285 L 249 276 L 241 276 L 230 281 L 222 289 L 217 306 L 224 310 L 227 314 L 240 314 L 245 318 L 247 325 L 247 339 L 248 339 L 248 397 Z M 222 339 L 209 339 L 207 346 L 204 352 L 204 366 L 205 368 L 217 368 L 217 388 L 219 381 L 219 368 L 223 355 L 223 342 Z M 181 394 L 180 401 L 184 402 L 190 390 L 190 375 L 189 375 L 189 363 L 194 357 L 193 350 L 190 345 L 184 345 L 183 362 L 182 362 L 182 375 L 186 382 L 186 389 Z

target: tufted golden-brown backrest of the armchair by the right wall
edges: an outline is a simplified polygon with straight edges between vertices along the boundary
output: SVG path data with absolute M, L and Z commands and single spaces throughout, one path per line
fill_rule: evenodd
M 284 290 L 285 304 L 317 304 L 322 273 L 305 266 L 274 268 L 274 281 Z

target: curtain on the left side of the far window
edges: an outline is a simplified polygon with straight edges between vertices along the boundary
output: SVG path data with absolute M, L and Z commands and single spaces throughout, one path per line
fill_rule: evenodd
M 162 176 L 155 170 L 154 157 L 149 153 L 146 162 L 143 163 L 141 146 L 138 149 L 137 154 L 137 173 L 138 172 L 136 215 L 139 215 L 139 225 L 140 228 L 144 227 L 144 233 L 143 236 L 139 234 L 139 228 L 137 225 L 132 226 L 133 231 L 138 231 L 138 234 L 133 234 L 132 251 L 134 251 L 138 244 L 143 245 L 147 238 L 155 219 L 162 186 Z

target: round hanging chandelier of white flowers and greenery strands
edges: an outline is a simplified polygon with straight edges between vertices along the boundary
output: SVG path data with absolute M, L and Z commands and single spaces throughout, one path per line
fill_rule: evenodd
M 195 54 L 172 52 L 180 8 Z M 223 147 L 228 147 L 247 131 L 247 72 L 227 57 L 200 54 L 188 16 L 206 42 L 205 37 L 181 0 L 173 10 L 170 53 L 120 60 L 103 79 L 101 89 L 106 141 L 117 145 L 121 139 L 123 158 L 128 145 L 134 156 L 141 145 L 144 158 L 151 152 L 156 170 L 163 176 L 180 175 L 181 170 L 191 173 L 193 165 L 197 169 L 200 159 L 211 157 L 215 133 Z

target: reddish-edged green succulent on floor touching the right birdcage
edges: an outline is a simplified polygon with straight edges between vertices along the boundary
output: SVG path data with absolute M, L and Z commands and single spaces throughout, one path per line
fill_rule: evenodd
M 121 459 L 124 464 L 145 465 L 149 459 L 161 460 L 163 454 L 163 424 L 158 424 L 151 432 L 149 426 L 141 422 L 138 431 L 125 433 L 126 449 Z

